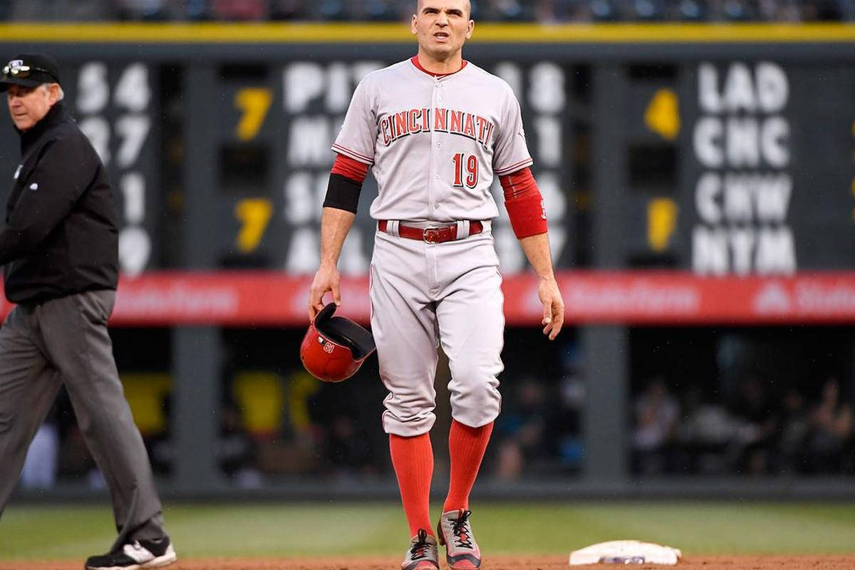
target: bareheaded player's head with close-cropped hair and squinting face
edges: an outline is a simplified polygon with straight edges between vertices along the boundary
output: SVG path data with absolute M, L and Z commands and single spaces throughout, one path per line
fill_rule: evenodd
M 421 0 L 413 15 L 412 32 L 428 55 L 445 59 L 463 49 L 472 37 L 469 0 Z

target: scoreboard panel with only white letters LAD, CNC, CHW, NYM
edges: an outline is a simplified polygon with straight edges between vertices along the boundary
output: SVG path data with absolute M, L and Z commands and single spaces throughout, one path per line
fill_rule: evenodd
M 683 229 L 698 273 L 852 267 L 855 66 L 699 62 Z

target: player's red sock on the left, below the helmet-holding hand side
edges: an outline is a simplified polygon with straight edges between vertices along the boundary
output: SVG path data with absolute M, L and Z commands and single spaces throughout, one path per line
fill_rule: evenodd
M 398 476 L 404 514 L 410 524 L 410 537 L 423 528 L 433 536 L 430 520 L 430 479 L 433 476 L 433 448 L 430 435 L 422 433 L 413 438 L 389 434 L 392 467 Z

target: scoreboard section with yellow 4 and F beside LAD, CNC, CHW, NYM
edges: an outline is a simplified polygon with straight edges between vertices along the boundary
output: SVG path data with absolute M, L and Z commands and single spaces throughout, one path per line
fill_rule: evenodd
M 852 267 L 852 64 L 702 59 L 665 75 L 628 73 L 630 263 L 701 275 Z

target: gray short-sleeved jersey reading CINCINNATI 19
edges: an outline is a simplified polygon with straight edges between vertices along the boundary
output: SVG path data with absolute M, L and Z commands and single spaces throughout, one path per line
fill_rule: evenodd
M 373 165 L 376 220 L 489 220 L 493 174 L 532 163 L 510 85 L 472 63 L 439 78 L 412 60 L 369 73 L 333 150 Z

